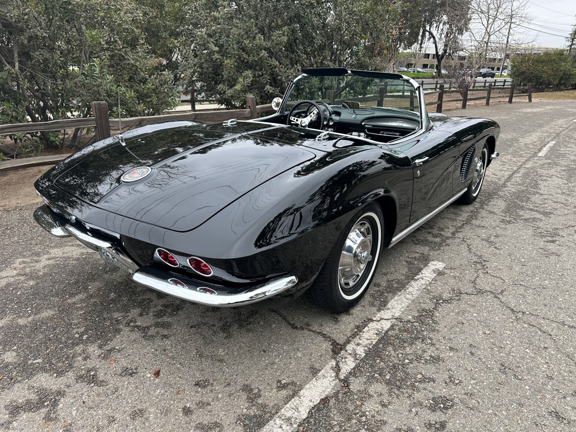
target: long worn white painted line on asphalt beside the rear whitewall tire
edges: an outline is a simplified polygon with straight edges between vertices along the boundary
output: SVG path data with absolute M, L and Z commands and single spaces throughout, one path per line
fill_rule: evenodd
M 295 431 L 300 422 L 308 416 L 310 409 L 316 406 L 320 399 L 329 395 L 334 386 L 338 384 L 338 380 L 345 378 L 350 373 L 366 352 L 395 322 L 395 318 L 406 309 L 406 306 L 420 294 L 420 291 L 434 279 L 434 276 L 444 266 L 445 264 L 437 261 L 428 264 L 338 355 L 337 360 L 340 366 L 338 376 L 336 376 L 336 361 L 333 360 L 263 427 L 262 432 Z

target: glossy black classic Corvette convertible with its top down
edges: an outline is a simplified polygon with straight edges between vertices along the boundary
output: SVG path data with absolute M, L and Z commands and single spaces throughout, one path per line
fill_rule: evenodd
M 270 116 L 157 124 L 85 147 L 36 181 L 36 221 L 199 304 L 308 290 L 350 309 L 385 248 L 478 197 L 499 126 L 429 115 L 400 74 L 302 72 Z

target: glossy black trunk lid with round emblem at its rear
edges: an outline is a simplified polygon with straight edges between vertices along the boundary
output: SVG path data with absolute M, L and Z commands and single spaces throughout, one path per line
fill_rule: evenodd
M 300 146 L 249 134 L 262 124 L 238 126 L 183 127 L 135 137 L 126 147 L 115 143 L 79 158 L 55 184 L 112 213 L 191 230 L 258 185 L 315 157 Z M 120 180 L 137 166 L 152 169 L 141 180 Z

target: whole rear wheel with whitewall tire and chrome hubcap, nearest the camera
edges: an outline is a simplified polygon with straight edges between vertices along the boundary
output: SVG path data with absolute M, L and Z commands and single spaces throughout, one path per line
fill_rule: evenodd
M 316 305 L 340 313 L 360 301 L 376 271 L 384 236 L 383 220 L 382 210 L 372 203 L 346 225 L 310 287 L 309 294 Z

